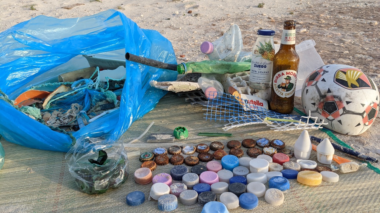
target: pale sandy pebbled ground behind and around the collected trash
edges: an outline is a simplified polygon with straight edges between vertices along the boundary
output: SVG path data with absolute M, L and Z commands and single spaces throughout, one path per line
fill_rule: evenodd
M 281 38 L 285 19 L 298 21 L 296 44 L 314 39 L 315 48 L 325 64 L 347 64 L 366 72 L 375 83 L 380 82 L 380 2 L 377 0 L 1 0 L 0 32 L 39 15 L 59 19 L 89 16 L 116 9 L 141 28 L 157 30 L 172 42 L 174 51 L 190 61 L 207 60 L 200 52 L 203 41 L 214 41 L 231 24 L 239 25 L 244 50 L 251 51 L 256 31 L 274 29 L 275 41 Z M 62 7 L 74 4 L 72 9 Z M 190 13 L 191 11 L 191 13 Z M 300 99 L 296 102 L 300 103 Z M 359 136 L 337 136 L 354 149 L 373 157 L 380 156 L 377 119 L 367 132 Z M 380 164 L 374 164 L 380 167 Z

